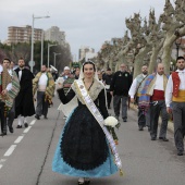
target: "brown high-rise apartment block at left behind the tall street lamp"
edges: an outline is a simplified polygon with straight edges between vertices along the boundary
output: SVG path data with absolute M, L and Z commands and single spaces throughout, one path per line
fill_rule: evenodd
M 8 32 L 8 45 L 18 42 L 30 42 L 32 39 L 32 26 L 26 25 L 22 27 L 10 26 Z M 34 42 L 41 40 L 42 29 L 34 28 Z

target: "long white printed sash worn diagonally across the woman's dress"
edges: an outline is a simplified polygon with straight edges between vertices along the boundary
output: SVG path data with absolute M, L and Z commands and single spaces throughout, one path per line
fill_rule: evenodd
M 76 88 L 78 89 L 78 91 L 81 92 L 79 95 L 82 96 L 85 104 L 87 106 L 88 110 L 91 112 L 91 114 L 95 116 L 95 119 L 97 120 L 97 122 L 99 123 L 99 125 L 101 126 L 102 131 L 106 134 L 106 137 L 110 144 L 112 153 L 114 156 L 114 162 L 116 164 L 116 166 L 120 170 L 120 174 L 122 175 L 122 161 L 119 157 L 119 152 L 116 150 L 116 146 L 115 143 L 112 138 L 112 135 L 109 133 L 109 131 L 107 130 L 107 127 L 104 126 L 104 120 L 102 118 L 102 115 L 100 114 L 99 110 L 97 109 L 96 104 L 94 103 L 92 99 L 90 98 L 90 96 L 88 95 L 84 82 L 82 79 L 75 81 L 74 85 L 76 86 Z

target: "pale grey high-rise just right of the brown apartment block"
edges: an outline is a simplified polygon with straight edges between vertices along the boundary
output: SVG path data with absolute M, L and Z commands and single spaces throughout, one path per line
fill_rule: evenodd
M 61 32 L 58 26 L 52 26 L 45 32 L 45 40 L 57 41 L 59 45 L 65 45 L 65 32 Z

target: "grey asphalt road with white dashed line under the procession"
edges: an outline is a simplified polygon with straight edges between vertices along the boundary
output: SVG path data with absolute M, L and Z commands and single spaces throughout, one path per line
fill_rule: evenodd
M 49 109 L 48 120 L 29 118 L 29 127 L 0 138 L 0 185 L 75 185 L 76 177 L 51 171 L 51 161 L 64 125 L 62 113 Z M 110 111 L 112 113 L 112 110 Z M 57 119 L 59 115 L 59 119 Z M 184 185 L 185 156 L 177 157 L 172 133 L 169 143 L 151 141 L 147 130 L 139 132 L 136 112 L 118 131 L 124 176 L 94 178 L 91 185 Z M 14 127 L 17 121 L 14 122 Z

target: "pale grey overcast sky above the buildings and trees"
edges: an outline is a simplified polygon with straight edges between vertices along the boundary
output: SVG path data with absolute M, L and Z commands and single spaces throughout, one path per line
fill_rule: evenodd
M 49 15 L 35 20 L 35 28 L 58 26 L 65 32 L 73 54 L 81 46 L 98 52 L 104 40 L 123 37 L 125 17 L 140 12 L 148 17 L 150 8 L 156 16 L 163 12 L 165 0 L 0 0 L 0 40 L 8 38 L 9 26 L 32 25 L 32 16 Z

